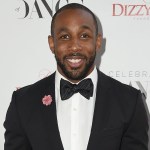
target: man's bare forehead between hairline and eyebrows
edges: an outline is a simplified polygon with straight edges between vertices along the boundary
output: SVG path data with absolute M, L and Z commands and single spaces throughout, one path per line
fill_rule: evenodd
M 95 28 L 93 16 L 88 11 L 80 8 L 66 9 L 57 14 L 54 22 L 54 30 L 57 30 L 61 26 L 69 27 L 69 25 L 87 25 Z

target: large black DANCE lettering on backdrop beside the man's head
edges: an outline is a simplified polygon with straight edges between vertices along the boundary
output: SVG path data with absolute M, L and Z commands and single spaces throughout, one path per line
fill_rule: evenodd
M 53 14 L 61 7 L 62 0 L 20 0 L 20 5 L 15 9 L 19 15 L 19 19 L 34 19 L 52 17 Z M 83 0 L 80 0 L 83 3 Z M 63 3 L 68 4 L 69 0 L 63 0 Z

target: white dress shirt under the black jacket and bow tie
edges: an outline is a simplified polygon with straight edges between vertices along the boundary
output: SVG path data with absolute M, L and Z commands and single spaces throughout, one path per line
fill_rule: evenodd
M 60 80 L 64 78 L 58 70 L 55 77 L 56 113 L 60 137 L 64 150 L 86 150 L 91 133 L 97 88 L 96 67 L 86 78 L 91 78 L 93 97 L 86 99 L 80 93 L 67 100 L 61 100 Z

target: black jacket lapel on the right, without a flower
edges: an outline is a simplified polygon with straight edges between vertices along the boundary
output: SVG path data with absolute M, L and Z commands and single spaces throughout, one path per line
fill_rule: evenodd
M 101 134 L 102 130 L 106 127 L 110 115 L 110 83 L 107 78 L 108 77 L 106 77 L 103 73 L 98 71 L 95 110 L 87 150 L 93 150 L 93 146 L 98 145 L 99 135 Z

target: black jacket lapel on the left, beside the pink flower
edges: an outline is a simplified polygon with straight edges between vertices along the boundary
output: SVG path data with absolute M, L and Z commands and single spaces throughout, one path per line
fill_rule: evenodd
M 52 103 L 49 106 L 43 105 L 42 120 L 45 127 L 45 134 L 49 149 L 63 150 L 63 145 L 60 138 L 55 103 L 55 74 L 50 76 L 46 83 L 45 95 L 51 95 Z

